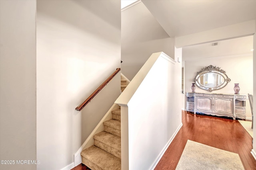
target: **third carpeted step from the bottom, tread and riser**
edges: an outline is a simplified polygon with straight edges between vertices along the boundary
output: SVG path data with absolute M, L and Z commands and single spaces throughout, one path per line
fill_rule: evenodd
M 110 119 L 103 123 L 104 131 L 121 137 L 121 122 L 117 120 Z

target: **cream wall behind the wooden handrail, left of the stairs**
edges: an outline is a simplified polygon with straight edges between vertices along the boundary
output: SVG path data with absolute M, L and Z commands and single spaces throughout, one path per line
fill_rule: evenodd
M 38 170 L 70 169 L 74 153 L 120 94 L 120 1 L 37 1 Z

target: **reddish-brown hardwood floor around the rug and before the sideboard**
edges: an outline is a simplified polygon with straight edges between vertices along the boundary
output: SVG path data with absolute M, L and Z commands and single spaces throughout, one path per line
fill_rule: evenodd
M 182 123 L 183 126 L 155 170 L 175 170 L 188 139 L 238 153 L 245 170 L 256 170 L 256 160 L 250 153 L 252 137 L 238 120 L 194 115 L 194 113 L 182 111 Z M 89 170 L 89 168 L 80 164 L 72 170 Z

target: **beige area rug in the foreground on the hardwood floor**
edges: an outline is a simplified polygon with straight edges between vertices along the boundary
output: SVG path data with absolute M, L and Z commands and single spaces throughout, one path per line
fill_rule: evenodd
M 244 170 L 238 154 L 188 140 L 176 170 Z

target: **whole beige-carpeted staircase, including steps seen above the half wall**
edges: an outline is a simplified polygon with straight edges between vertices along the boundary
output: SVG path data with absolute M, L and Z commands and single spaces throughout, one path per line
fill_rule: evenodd
M 121 80 L 121 91 L 126 86 L 126 80 Z M 104 131 L 94 135 L 94 145 L 81 152 L 82 163 L 92 170 L 121 169 L 121 109 L 111 113 L 112 119 L 103 123 Z

